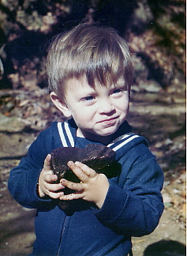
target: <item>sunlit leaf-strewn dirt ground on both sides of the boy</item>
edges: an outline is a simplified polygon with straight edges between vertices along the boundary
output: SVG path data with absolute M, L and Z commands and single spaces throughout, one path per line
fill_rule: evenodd
M 157 157 L 165 175 L 163 216 L 151 235 L 133 238 L 134 256 L 150 255 L 144 253 L 150 246 L 153 247 L 153 252 L 158 251 L 158 254 L 151 255 L 160 256 L 160 247 L 165 253 L 167 250 L 163 255 L 185 255 L 182 253 L 182 248 L 185 247 L 183 93 L 176 95 L 134 91 L 132 94 L 129 123 L 135 127 L 135 132 L 148 138 L 150 149 Z M 59 119 L 59 113 L 48 103 L 47 91 L 39 89 L 35 96 L 31 95 L 33 94 L 30 92 L 18 90 L 0 93 L 1 99 L 4 99 L 1 104 L 3 116 L 0 117 L 0 256 L 24 256 L 32 252 L 36 211 L 25 209 L 11 198 L 7 189 L 9 171 L 17 166 L 21 157 L 26 154 L 39 130 L 43 130 L 53 119 Z M 10 105 L 11 102 L 14 105 L 9 109 L 7 104 Z M 14 122 L 17 130 L 8 125 L 9 121 Z M 163 247 L 163 240 L 169 244 L 167 249 Z M 153 243 L 156 243 L 155 246 Z M 171 252 L 170 248 L 173 248 Z

